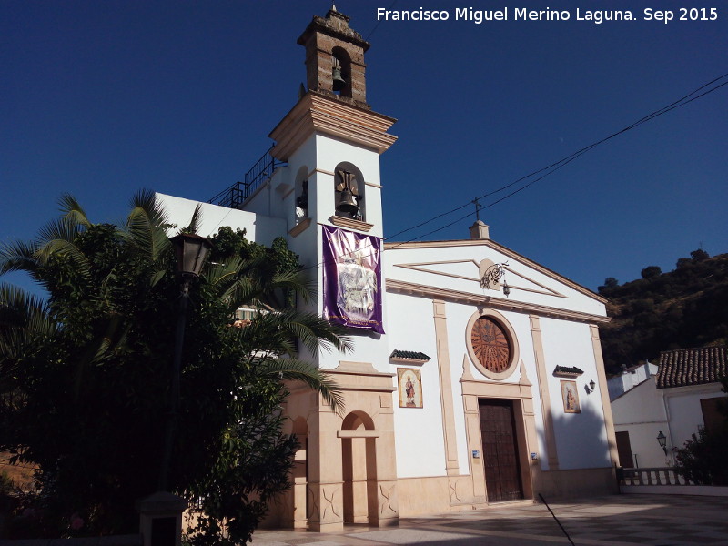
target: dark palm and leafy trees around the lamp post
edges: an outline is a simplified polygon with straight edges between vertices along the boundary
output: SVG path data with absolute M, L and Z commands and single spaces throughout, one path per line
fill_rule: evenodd
M 150 192 L 121 227 L 91 223 L 72 197 L 61 205 L 35 241 L 0 249 L 0 274 L 24 270 L 49 294 L 0 285 L 0 450 L 38 465 L 38 534 L 68 533 L 71 521 L 71 534 L 135 532 L 135 501 L 157 490 L 169 409 L 180 282 L 167 218 Z M 311 294 L 285 241 L 264 248 L 227 228 L 213 242 L 189 292 L 169 483 L 202 504 L 198 543 L 238 544 L 288 485 L 285 381 L 340 408 L 298 344 L 349 340 L 291 308 L 290 295 Z M 243 328 L 241 305 L 261 309 Z

